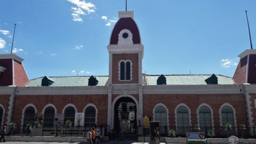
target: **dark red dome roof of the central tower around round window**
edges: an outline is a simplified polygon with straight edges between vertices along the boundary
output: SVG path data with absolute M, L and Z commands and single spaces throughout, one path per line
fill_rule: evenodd
M 140 43 L 140 31 L 138 29 L 137 24 L 131 17 L 121 18 L 116 22 L 115 28 L 112 31 L 110 44 L 115 45 L 118 43 L 118 34 L 123 29 L 129 29 L 132 33 L 132 41 L 133 44 L 141 44 Z

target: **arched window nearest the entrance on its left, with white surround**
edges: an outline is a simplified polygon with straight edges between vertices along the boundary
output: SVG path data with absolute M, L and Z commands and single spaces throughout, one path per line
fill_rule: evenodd
M 94 104 L 87 104 L 83 110 L 84 126 L 92 127 L 97 124 L 98 109 Z

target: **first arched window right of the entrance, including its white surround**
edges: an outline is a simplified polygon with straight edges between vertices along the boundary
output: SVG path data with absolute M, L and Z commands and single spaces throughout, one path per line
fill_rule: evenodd
M 153 110 L 154 121 L 159 122 L 160 133 L 165 134 L 169 129 L 169 111 L 162 103 L 157 104 Z

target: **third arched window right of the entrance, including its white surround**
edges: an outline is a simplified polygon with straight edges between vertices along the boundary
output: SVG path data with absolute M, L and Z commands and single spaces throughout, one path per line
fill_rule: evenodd
M 211 106 L 208 104 L 200 104 L 198 106 L 198 109 L 196 110 L 197 113 L 197 120 L 198 120 L 198 125 L 200 126 L 200 129 L 202 132 L 207 132 L 209 130 L 214 131 L 214 123 L 213 123 L 213 112 Z

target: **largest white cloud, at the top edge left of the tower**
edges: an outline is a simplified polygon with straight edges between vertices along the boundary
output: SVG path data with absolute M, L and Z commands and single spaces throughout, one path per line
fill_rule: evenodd
M 93 3 L 89 3 L 86 1 L 80 1 L 80 0 L 67 0 L 68 2 L 72 4 L 76 4 L 77 8 L 72 7 L 72 17 L 74 21 L 83 22 L 83 19 L 81 18 L 81 15 L 86 15 L 86 13 L 93 13 L 95 12 L 95 5 Z M 84 13 L 86 11 L 86 13 Z

